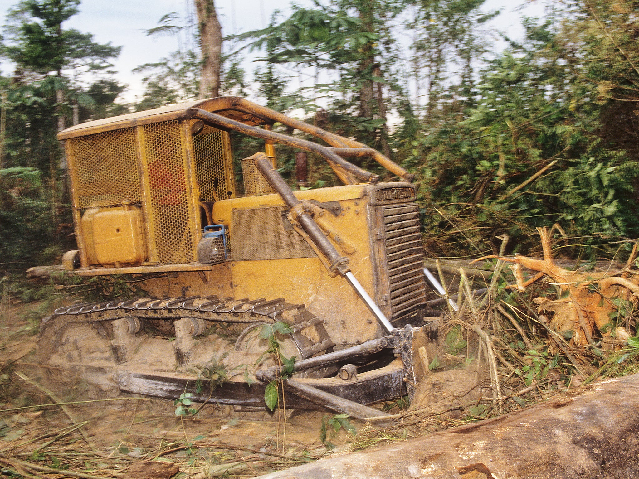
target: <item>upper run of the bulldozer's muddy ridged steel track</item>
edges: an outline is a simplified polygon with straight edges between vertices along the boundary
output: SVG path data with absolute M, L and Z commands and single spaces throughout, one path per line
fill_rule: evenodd
M 165 321 L 192 318 L 215 323 L 244 324 L 280 321 L 287 324 L 293 331 L 291 337 L 298 345 L 302 359 L 335 346 L 324 328 L 322 319 L 309 312 L 304 305 L 287 303 L 284 298 L 233 300 L 233 298 L 217 296 L 183 296 L 80 303 L 56 309 L 44 323 L 63 321 L 64 323 L 99 324 L 102 321 L 124 318 Z M 318 340 L 309 340 L 303 335 L 302 331 L 306 328 L 313 328 Z

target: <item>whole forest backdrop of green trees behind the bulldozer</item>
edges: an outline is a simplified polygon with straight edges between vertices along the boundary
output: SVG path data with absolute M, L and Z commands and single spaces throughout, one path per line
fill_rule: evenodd
M 59 130 L 199 92 L 197 28 L 167 12 L 148 33 L 187 41 L 139 66 L 144 93 L 125 102 L 111 68 L 120 47 L 65 27 L 79 3 L 8 10 L 0 54 L 15 68 L 0 77 L 0 276 L 74 247 Z M 535 227 L 553 224 L 589 259 L 613 257 L 639 236 L 639 1 L 548 1 L 543 18 L 523 18 L 521 40 L 495 31 L 500 13 L 484 3 L 294 4 L 264 29 L 224 38 L 220 95 L 304 116 L 415 173 L 431 257 L 495 254 L 503 234 L 528 254 Z M 302 72 L 311 83 L 300 86 Z M 252 146 L 234 148 L 242 158 Z M 292 156 L 278 165 L 285 178 Z M 328 169 L 309 179 L 337 184 Z

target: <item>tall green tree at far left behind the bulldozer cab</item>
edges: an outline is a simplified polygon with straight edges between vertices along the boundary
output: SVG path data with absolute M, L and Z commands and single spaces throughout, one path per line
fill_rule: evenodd
M 10 165 L 36 167 L 50 178 L 52 217 L 66 194 L 66 162 L 56 141 L 66 119 L 77 123 L 81 107 L 93 105 L 84 91 L 88 73 L 109 66 L 120 47 L 93 42 L 93 35 L 63 24 L 79 0 L 24 0 L 9 10 L 0 54 L 15 62 L 8 91 L 6 147 Z M 59 187 L 61 186 L 61 188 Z M 64 210 L 60 210 L 62 213 Z

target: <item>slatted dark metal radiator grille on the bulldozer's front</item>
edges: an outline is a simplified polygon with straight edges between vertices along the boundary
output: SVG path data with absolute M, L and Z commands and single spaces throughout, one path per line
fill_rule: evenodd
M 398 319 L 410 314 L 426 302 L 424 254 L 419 234 L 419 206 L 403 204 L 381 206 L 378 220 L 383 227 L 383 255 L 390 318 Z

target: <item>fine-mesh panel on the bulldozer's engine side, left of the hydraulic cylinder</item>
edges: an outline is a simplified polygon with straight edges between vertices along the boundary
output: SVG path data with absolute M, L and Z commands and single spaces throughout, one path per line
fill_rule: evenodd
M 232 213 L 233 259 L 311 258 L 316 256 L 286 219 L 285 206 L 235 209 Z

